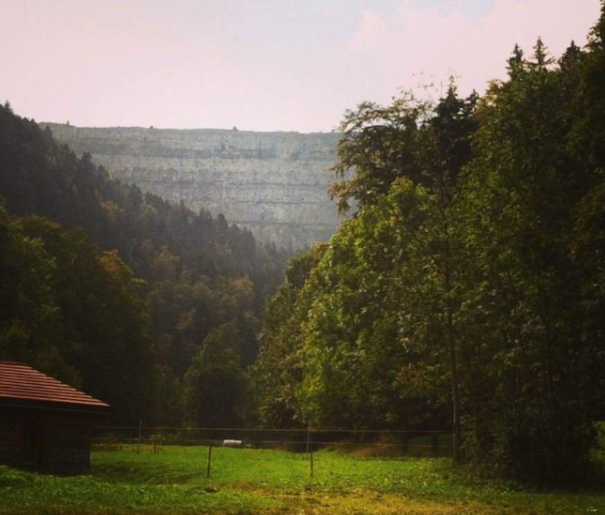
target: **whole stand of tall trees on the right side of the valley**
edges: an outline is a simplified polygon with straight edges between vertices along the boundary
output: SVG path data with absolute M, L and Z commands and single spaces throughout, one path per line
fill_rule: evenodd
M 273 426 L 453 428 L 454 456 L 587 484 L 605 418 L 605 6 L 580 48 L 516 47 L 484 96 L 362 103 L 254 365 Z

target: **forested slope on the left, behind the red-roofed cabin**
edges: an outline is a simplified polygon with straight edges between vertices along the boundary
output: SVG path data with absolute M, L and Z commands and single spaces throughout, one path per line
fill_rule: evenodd
M 285 250 L 110 180 L 8 102 L 0 197 L 0 359 L 82 387 L 116 423 L 242 423 Z M 240 408 L 196 412 L 196 381 Z

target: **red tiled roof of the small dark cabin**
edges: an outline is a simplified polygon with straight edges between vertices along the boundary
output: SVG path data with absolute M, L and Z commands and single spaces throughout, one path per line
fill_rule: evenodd
M 55 378 L 42 374 L 28 365 L 15 361 L 0 361 L 0 404 L 60 403 L 71 410 L 100 410 L 109 408 L 94 397 L 80 392 Z

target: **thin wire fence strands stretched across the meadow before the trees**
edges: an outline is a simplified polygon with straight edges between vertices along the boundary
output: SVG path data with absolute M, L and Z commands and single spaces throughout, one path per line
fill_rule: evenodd
M 95 427 L 91 444 L 106 451 L 134 445 L 161 452 L 164 446 L 181 445 L 276 448 L 298 453 L 332 449 L 385 457 L 445 457 L 452 452 L 452 435 L 430 430 L 182 428 L 140 424 Z

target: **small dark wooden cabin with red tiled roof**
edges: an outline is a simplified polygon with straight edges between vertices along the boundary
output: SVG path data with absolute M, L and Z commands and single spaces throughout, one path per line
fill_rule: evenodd
M 0 462 L 44 473 L 85 474 L 90 428 L 109 405 L 14 361 L 0 361 Z

